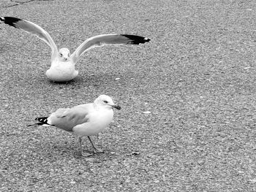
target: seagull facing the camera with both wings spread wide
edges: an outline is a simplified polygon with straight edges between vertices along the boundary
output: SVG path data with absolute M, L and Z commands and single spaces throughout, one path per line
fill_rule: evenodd
M 78 71 L 75 70 L 75 64 L 78 63 L 83 53 L 93 47 L 102 47 L 104 45 L 139 45 L 140 43 L 144 44 L 150 41 L 146 37 L 132 34 L 102 34 L 86 39 L 74 53 L 70 54 L 69 49 L 66 47 L 58 50 L 50 34 L 29 20 L 12 17 L 1 17 L 0 20 L 5 24 L 34 34 L 50 46 L 51 64 L 50 69 L 46 72 L 46 76 L 54 82 L 67 82 L 77 77 Z

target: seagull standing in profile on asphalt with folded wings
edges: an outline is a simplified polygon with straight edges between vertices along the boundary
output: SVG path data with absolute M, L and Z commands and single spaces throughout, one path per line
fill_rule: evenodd
M 121 110 L 114 104 L 110 96 L 101 95 L 93 103 L 80 104 L 72 108 L 60 108 L 48 117 L 36 118 L 38 123 L 29 126 L 52 126 L 69 131 L 78 137 L 80 147 L 79 155 L 88 157 L 94 153 L 104 153 L 99 150 L 91 140 L 92 135 L 99 134 L 113 120 L 113 108 Z M 82 137 L 87 136 L 93 147 L 93 153 L 83 153 Z

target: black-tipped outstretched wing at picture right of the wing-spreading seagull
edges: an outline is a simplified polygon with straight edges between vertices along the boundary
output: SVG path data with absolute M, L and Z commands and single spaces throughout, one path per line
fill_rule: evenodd
M 102 47 L 104 45 L 139 45 L 140 43 L 149 42 L 150 39 L 146 37 L 140 37 L 130 34 L 102 34 L 95 37 L 91 37 L 83 42 L 74 53 L 71 55 L 71 59 L 74 63 L 77 63 L 80 56 L 87 50 L 93 47 Z

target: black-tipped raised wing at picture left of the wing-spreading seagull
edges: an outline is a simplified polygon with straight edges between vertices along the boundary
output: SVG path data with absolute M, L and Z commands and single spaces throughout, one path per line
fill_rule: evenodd
M 5 24 L 8 24 L 15 28 L 20 28 L 23 31 L 34 34 L 35 36 L 39 37 L 39 39 L 42 39 L 50 46 L 52 58 L 55 58 L 58 55 L 58 48 L 55 42 L 53 42 L 53 39 L 50 37 L 50 34 L 48 34 L 48 32 L 40 26 L 37 26 L 37 24 L 32 23 L 29 20 L 12 17 L 1 17 L 0 20 L 3 21 Z

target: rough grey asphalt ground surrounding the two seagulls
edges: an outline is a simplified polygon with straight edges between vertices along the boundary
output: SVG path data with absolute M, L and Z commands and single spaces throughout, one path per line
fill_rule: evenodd
M 89 50 L 75 80 L 53 83 L 50 47 L 0 25 L 0 191 L 256 191 L 255 1 L 4 0 L 0 12 L 71 51 L 98 34 L 151 39 Z M 71 134 L 27 127 L 102 93 L 122 107 L 93 137 L 105 154 L 78 158 Z

